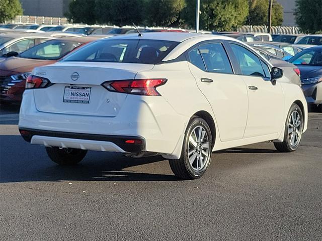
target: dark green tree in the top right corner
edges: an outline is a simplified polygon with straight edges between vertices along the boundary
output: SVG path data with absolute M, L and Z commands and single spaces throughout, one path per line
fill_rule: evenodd
M 296 0 L 296 24 L 303 32 L 314 34 L 322 31 L 322 3 L 321 0 Z

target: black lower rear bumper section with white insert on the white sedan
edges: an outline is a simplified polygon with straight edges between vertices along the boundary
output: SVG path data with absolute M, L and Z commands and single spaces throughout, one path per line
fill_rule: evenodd
M 145 152 L 145 140 L 138 137 L 54 132 L 25 128 L 21 128 L 19 131 L 25 141 L 46 147 L 121 153 Z M 134 143 L 127 143 L 126 141 Z

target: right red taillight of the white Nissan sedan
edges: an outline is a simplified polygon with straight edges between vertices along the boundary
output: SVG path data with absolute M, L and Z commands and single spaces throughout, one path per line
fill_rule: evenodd
M 167 79 L 135 79 L 106 81 L 102 85 L 113 92 L 159 96 L 156 87 L 164 85 L 166 82 Z

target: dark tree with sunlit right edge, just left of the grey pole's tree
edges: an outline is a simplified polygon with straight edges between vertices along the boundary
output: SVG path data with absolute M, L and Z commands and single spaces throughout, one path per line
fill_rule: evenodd
M 146 1 L 146 24 L 150 26 L 179 25 L 180 13 L 186 6 L 185 0 Z

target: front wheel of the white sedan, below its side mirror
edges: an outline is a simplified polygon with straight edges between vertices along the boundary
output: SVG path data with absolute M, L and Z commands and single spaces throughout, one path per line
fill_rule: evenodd
M 297 104 L 292 104 L 285 123 L 284 140 L 274 142 L 276 150 L 280 152 L 294 152 L 302 140 L 303 113 Z

